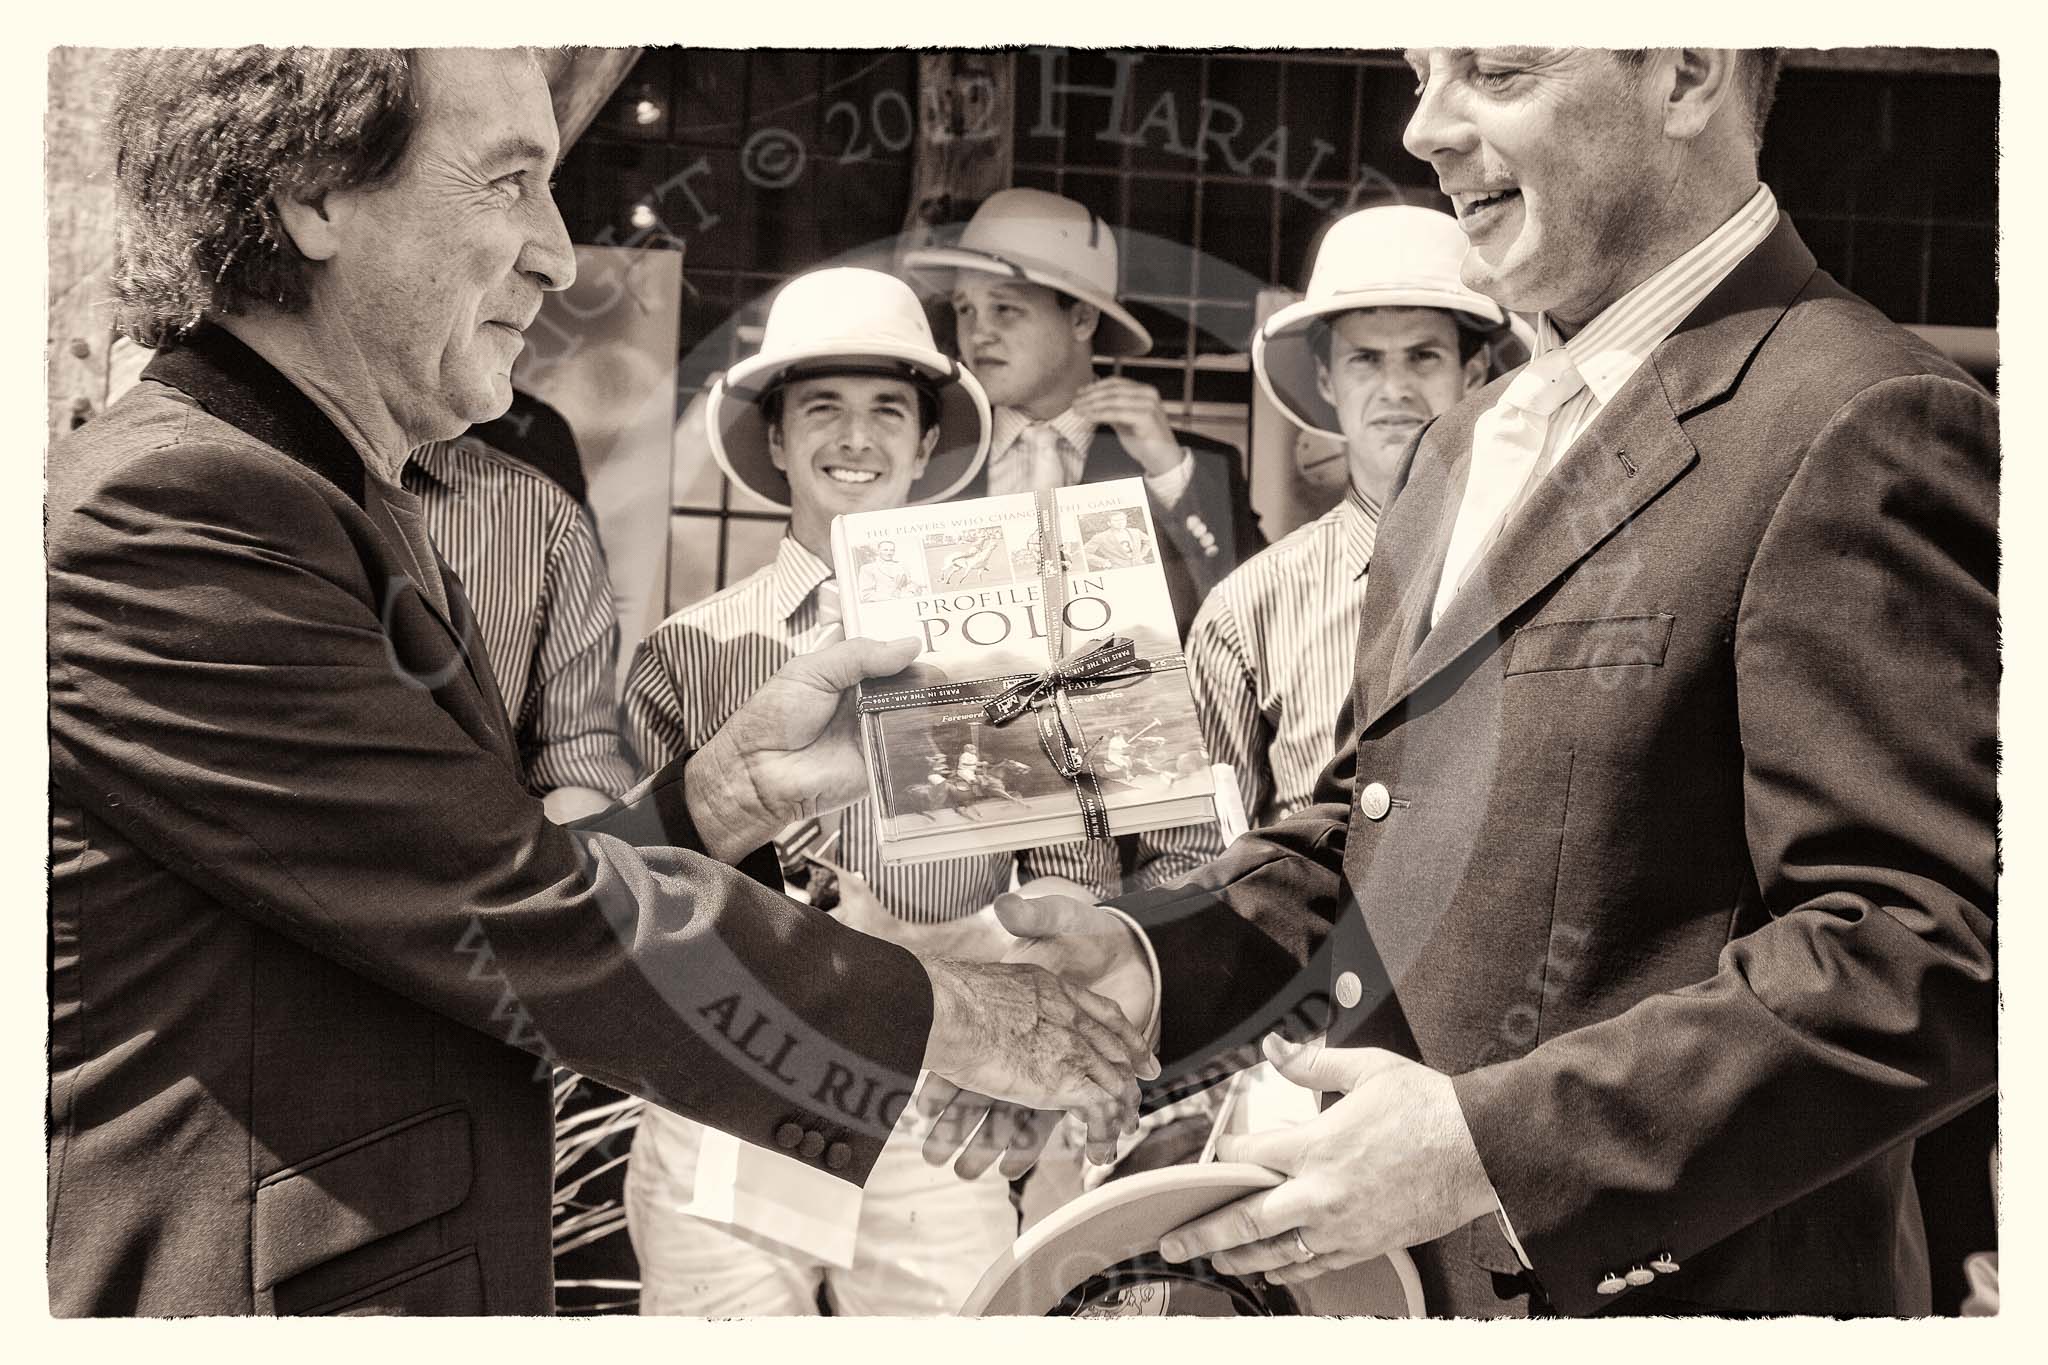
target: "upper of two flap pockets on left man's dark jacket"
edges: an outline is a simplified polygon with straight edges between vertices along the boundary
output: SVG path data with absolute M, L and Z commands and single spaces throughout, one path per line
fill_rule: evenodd
M 256 1185 L 250 1259 L 258 1293 L 469 1197 L 469 1111 L 440 1105 Z

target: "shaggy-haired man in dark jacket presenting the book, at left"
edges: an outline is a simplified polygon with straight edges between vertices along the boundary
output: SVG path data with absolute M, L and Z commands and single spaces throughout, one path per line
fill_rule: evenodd
M 49 454 L 53 1314 L 549 1312 L 549 1064 L 856 1185 L 920 1066 L 1135 1119 L 1108 1001 L 729 866 L 864 788 L 909 647 L 573 833 L 520 784 L 399 471 L 573 278 L 528 53 L 143 51 L 113 145 L 160 356 Z

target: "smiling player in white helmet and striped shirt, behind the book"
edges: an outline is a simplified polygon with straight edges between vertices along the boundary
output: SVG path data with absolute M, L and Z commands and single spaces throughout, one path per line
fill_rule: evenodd
M 938 352 L 918 297 L 893 276 L 856 268 L 813 270 L 776 295 L 760 354 L 713 387 L 705 422 L 725 475 L 786 508 L 791 526 L 772 563 L 676 612 L 641 645 L 625 731 L 649 769 L 702 743 L 786 659 L 836 636 L 834 516 L 952 497 L 977 477 L 989 442 L 987 397 Z M 930 589 L 928 569 L 913 561 L 870 563 L 856 589 Z M 920 956 L 944 954 L 965 931 L 961 921 L 1008 890 L 1014 874 L 1059 878 L 1042 886 L 1114 888 L 1079 843 L 885 868 L 868 802 L 825 823 L 840 835 L 829 851 L 834 913 Z M 819 878 L 813 902 L 825 898 Z M 862 1193 L 821 1177 L 799 1160 L 803 1152 L 735 1150 L 649 1107 L 627 1175 L 641 1312 L 807 1314 L 819 1285 L 848 1316 L 956 1310 L 1016 1238 L 1010 1187 L 997 1175 L 963 1181 L 934 1171 L 920 1158 L 922 1134 L 907 1128 L 883 1146 Z M 793 1146 L 803 1140 L 788 1136 Z

